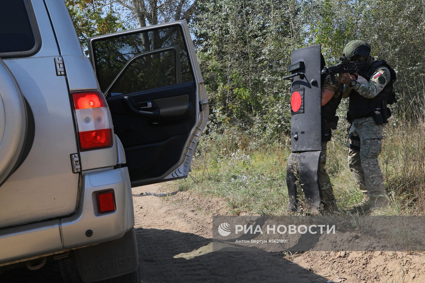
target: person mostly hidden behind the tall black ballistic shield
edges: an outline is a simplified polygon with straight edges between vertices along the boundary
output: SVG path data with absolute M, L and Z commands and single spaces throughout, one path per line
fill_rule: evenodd
M 321 55 L 320 69 L 325 66 L 325 59 Z M 327 144 L 331 140 L 332 129 L 336 129 L 338 116 L 336 111 L 341 102 L 341 95 L 337 90 L 337 85 L 331 83 L 331 76 L 322 74 L 322 153 L 320 154 L 319 163 L 319 185 L 320 198 L 323 208 L 326 212 L 332 212 L 337 209 L 335 196 L 332 190 L 331 180 L 326 172 L 326 150 Z

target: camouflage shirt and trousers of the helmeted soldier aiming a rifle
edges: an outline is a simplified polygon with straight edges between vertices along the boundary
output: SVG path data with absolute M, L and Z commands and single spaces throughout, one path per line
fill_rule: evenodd
M 371 60 L 373 61 L 373 58 Z M 378 72 L 380 74 L 377 74 Z M 381 66 L 371 75 L 369 82 L 359 77 L 353 88 L 344 85 L 343 98 L 348 97 L 352 89 L 368 99 L 374 98 L 390 82 L 390 77 L 388 68 Z M 360 151 L 349 148 L 348 167 L 359 184 L 360 191 L 372 198 L 385 196 L 383 175 L 378 163 L 384 125 L 377 125 L 372 117 L 358 118 L 354 119 L 349 129 L 349 133 L 357 137 L 351 139 L 351 144 L 360 147 Z

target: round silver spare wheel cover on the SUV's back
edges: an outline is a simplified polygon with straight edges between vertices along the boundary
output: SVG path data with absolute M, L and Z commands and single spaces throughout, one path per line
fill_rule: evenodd
M 27 113 L 20 88 L 0 59 L 0 186 L 13 173 L 22 154 Z

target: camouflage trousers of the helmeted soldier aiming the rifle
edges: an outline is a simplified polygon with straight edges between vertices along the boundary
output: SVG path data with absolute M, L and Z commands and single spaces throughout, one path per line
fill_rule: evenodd
M 349 130 L 350 135 L 360 139 L 351 139 L 351 144 L 360 147 L 360 151 L 348 149 L 348 167 L 360 191 L 372 198 L 385 195 L 384 178 L 378 163 L 383 128 L 383 125 L 377 125 L 372 117 L 368 117 L 355 119 Z

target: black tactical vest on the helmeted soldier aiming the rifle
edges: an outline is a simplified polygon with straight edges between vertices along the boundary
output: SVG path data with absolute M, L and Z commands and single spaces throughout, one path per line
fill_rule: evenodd
M 374 98 L 366 98 L 360 95 L 357 91 L 351 90 L 348 102 L 348 115 L 351 116 L 351 119 L 370 117 L 374 109 L 381 107 L 382 101 L 385 101 L 387 104 L 397 102 L 393 88 L 393 84 L 397 79 L 397 76 L 393 68 L 391 68 L 387 62 L 376 60 L 372 62 L 371 67 L 365 74 L 360 75 L 369 82 L 372 74 L 374 74 L 375 70 L 380 66 L 388 68 L 391 75 L 390 81 Z

